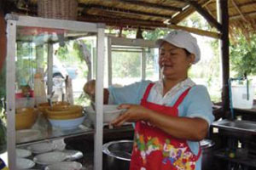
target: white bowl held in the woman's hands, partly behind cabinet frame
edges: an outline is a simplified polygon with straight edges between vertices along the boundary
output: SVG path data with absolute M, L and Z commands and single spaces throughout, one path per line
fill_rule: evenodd
M 103 105 L 103 123 L 108 124 L 109 122 L 112 122 L 115 118 L 117 118 L 122 112 L 124 112 L 124 109 L 117 109 L 119 105 Z M 84 108 L 85 112 L 88 113 L 90 120 L 95 123 L 96 120 L 96 113 L 92 109 L 91 106 L 87 106 Z

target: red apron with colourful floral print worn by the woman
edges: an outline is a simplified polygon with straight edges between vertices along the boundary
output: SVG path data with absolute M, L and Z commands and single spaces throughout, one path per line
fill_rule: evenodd
M 190 88 L 185 90 L 176 103 L 170 107 L 147 101 L 153 85 L 153 83 L 148 85 L 141 105 L 161 114 L 178 116 L 177 107 L 189 93 Z M 135 142 L 130 164 L 131 170 L 193 170 L 195 169 L 195 162 L 200 156 L 201 148 L 196 156 L 189 149 L 186 140 L 176 139 L 148 122 L 140 121 L 136 123 Z

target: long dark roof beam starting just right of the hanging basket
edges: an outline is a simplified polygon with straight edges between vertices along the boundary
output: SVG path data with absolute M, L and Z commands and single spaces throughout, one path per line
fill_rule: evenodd
M 79 7 L 83 8 L 86 10 L 86 8 L 99 8 L 102 10 L 108 10 L 108 11 L 113 11 L 113 12 L 119 12 L 119 13 L 127 13 L 127 14 L 142 14 L 142 15 L 148 15 L 148 16 L 153 16 L 153 17 L 160 17 L 160 18 L 164 18 L 164 19 L 171 19 L 172 15 L 167 15 L 167 14 L 153 14 L 153 13 L 146 13 L 146 12 L 140 12 L 140 11 L 136 11 L 136 10 L 131 10 L 131 9 L 125 9 L 125 8 L 115 8 L 115 7 L 106 7 L 106 6 L 102 6 L 102 5 L 86 5 L 83 3 L 79 3 Z

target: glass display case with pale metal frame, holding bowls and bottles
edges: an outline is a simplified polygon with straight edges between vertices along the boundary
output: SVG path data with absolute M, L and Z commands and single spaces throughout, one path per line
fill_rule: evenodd
M 94 162 L 96 163 L 94 163 L 94 169 L 102 169 L 103 94 L 101 92 L 103 91 L 105 26 L 13 14 L 6 15 L 6 20 L 9 168 L 16 169 L 16 162 L 18 162 L 16 161 L 16 148 L 27 148 L 31 144 L 51 142 L 55 139 L 78 136 L 84 133 L 95 133 Z M 91 54 L 96 56 L 96 68 L 94 69 L 96 77 L 94 78 L 96 78 L 95 103 L 97 114 L 94 129 L 83 123 L 84 113 L 71 118 L 63 113 L 67 117 L 65 120 L 60 118 L 62 122 L 58 122 L 60 121 L 59 118 L 50 117 L 55 116 L 55 112 L 52 111 L 53 115 L 50 115 L 51 110 L 46 106 L 44 107 L 44 105 L 56 105 L 62 102 L 63 105 L 59 109 L 65 112 L 64 104 L 66 102 L 68 105 L 76 105 L 73 108 L 74 111 L 82 112 L 79 103 L 73 99 L 74 96 L 68 94 L 70 89 L 67 87 L 70 88 L 70 86 L 67 84 L 70 77 L 75 77 L 75 71 L 72 68 L 75 57 L 86 57 L 83 55 L 83 48 L 77 50 L 79 54 L 76 54 L 73 48 L 84 45 L 90 49 Z M 57 55 L 61 56 L 61 59 Z M 62 61 L 71 65 L 63 66 Z M 91 77 L 92 73 L 86 70 L 85 63 L 81 64 L 82 61 L 77 63 L 81 67 L 84 66 L 82 75 L 87 74 L 86 77 Z M 79 79 L 76 84 L 84 84 L 81 81 L 82 79 Z M 74 119 L 76 119 L 75 122 L 70 121 Z

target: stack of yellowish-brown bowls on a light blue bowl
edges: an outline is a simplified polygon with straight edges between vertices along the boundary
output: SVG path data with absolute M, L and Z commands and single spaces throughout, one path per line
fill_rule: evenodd
M 80 105 L 54 105 L 46 109 L 46 114 L 51 125 L 61 129 L 79 127 L 85 118 Z

